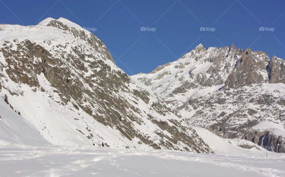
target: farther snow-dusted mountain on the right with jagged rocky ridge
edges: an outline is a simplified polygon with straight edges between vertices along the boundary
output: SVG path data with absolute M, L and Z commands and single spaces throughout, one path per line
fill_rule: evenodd
M 202 44 L 151 73 L 132 76 L 190 125 L 285 152 L 285 62 L 250 48 Z

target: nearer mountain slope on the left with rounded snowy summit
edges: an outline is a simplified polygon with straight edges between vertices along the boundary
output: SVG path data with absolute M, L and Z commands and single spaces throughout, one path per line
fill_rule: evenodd
M 0 35 L 1 94 L 52 144 L 212 152 L 80 26 L 48 18 Z

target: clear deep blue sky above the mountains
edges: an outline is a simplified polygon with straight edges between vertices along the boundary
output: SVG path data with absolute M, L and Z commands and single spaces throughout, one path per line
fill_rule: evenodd
M 281 0 L 1 0 L 0 23 L 36 25 L 47 17 L 64 17 L 96 28 L 93 33 L 116 64 L 132 75 L 175 61 L 200 43 L 206 49 L 250 46 L 285 59 L 284 7 Z M 259 31 L 260 27 L 275 30 Z

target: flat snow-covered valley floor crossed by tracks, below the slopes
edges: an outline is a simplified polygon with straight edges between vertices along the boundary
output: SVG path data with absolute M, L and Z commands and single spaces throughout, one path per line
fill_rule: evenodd
M 285 176 L 285 155 L 7 145 L 0 147 L 0 176 Z

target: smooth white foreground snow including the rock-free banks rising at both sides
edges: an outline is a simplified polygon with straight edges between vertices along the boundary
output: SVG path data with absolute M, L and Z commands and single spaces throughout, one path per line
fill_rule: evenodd
M 285 176 L 285 154 L 203 128 L 192 127 L 216 154 L 56 146 L 3 100 L 0 106 L 1 113 L 6 111 L 0 121 L 0 176 Z

